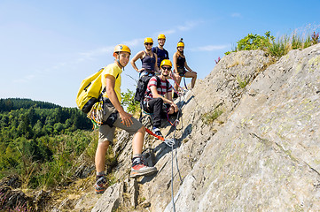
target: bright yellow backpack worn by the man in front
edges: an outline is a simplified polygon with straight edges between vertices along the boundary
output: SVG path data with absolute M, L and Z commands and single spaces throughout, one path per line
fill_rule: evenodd
M 98 72 L 82 80 L 75 102 L 78 108 L 84 113 L 88 113 L 91 110 L 92 105 L 98 102 L 99 97 L 102 96 L 101 73 L 104 70 L 105 68 L 102 68 Z

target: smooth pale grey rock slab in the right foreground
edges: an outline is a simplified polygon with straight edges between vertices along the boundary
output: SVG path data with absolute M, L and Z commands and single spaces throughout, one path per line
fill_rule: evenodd
M 254 79 L 255 95 L 184 178 L 176 211 L 320 210 L 319 49 L 293 50 Z

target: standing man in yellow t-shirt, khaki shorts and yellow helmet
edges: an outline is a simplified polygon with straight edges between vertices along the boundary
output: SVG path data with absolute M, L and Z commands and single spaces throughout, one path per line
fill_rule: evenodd
M 101 75 L 102 87 L 105 87 L 103 95 L 104 117 L 106 125 L 99 127 L 98 148 L 96 151 L 97 182 L 96 193 L 104 193 L 108 185 L 105 178 L 105 153 L 109 144 L 113 143 L 115 127 L 119 127 L 133 135 L 132 139 L 132 166 L 130 177 L 151 175 L 157 171 L 155 167 L 148 167 L 142 157 L 145 128 L 136 118 L 123 110 L 121 106 L 121 68 L 129 63 L 131 50 L 128 46 L 119 44 L 113 50 L 115 61 L 105 67 Z

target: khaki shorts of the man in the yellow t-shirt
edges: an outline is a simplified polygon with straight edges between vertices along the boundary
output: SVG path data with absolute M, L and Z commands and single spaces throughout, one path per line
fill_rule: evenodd
M 103 120 L 106 120 L 112 112 L 116 111 L 115 108 L 111 103 L 104 103 L 104 115 Z M 98 142 L 104 142 L 108 140 L 111 144 L 113 144 L 113 138 L 114 138 L 114 132 L 115 127 L 119 127 L 122 130 L 127 131 L 130 135 L 133 135 L 137 133 L 137 131 L 143 126 L 135 117 L 131 117 L 131 120 L 133 122 L 132 125 L 129 127 L 126 125 L 123 125 L 121 123 L 121 117 L 119 117 L 119 114 L 117 114 L 117 119 L 115 120 L 113 127 L 110 127 L 109 125 L 101 125 L 99 127 L 99 136 L 98 136 Z

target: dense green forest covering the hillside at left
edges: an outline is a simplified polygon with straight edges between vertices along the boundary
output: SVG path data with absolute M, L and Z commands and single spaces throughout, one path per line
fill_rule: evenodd
M 26 187 L 55 186 L 92 137 L 76 108 L 29 99 L 0 100 L 0 178 L 18 174 Z

